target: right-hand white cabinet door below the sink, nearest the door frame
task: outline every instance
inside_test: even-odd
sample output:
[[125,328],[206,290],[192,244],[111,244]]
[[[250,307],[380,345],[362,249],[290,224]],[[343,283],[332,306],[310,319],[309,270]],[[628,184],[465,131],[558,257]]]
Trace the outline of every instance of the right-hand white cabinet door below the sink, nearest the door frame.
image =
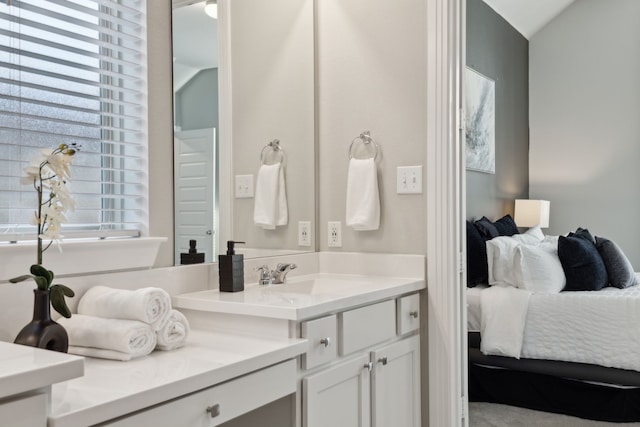
[[420,337],[371,353],[372,426],[420,427]]

